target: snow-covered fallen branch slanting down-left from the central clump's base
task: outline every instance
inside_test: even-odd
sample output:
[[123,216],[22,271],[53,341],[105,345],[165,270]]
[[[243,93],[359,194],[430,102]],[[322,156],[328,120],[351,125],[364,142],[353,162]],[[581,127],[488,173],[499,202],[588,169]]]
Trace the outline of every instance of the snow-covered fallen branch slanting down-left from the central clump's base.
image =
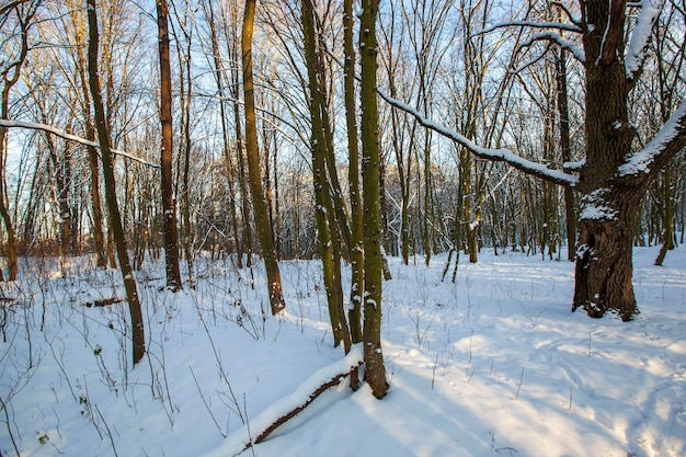
[[295,392],[273,403],[256,418],[230,434],[216,449],[203,457],[233,457],[259,444],[278,426],[295,418],[331,387],[341,384],[364,362],[362,344],[355,344],[342,359],[316,372]]

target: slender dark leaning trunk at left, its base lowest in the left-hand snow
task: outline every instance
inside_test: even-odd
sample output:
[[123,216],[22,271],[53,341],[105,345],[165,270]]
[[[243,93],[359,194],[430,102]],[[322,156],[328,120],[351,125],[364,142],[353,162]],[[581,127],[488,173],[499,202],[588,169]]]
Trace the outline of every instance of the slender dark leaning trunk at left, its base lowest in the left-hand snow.
[[110,132],[105,117],[105,108],[100,91],[100,77],[98,73],[98,12],[95,10],[95,0],[87,0],[88,10],[88,73],[89,85],[93,99],[93,107],[95,110],[95,128],[100,139],[100,148],[102,151],[103,175],[105,179],[105,199],[107,203],[107,215],[110,218],[110,232],[116,244],[117,258],[119,261],[119,270],[124,279],[124,288],[128,299],[128,310],[132,318],[132,340],[134,365],[136,365],[146,352],[146,339],[142,321],[142,311],[138,299],[138,290],[136,279],[132,272],[132,265],[126,251],[126,240],[124,237],[124,228],[119,215],[119,206],[116,201],[116,185],[114,181],[114,162],[111,152]]

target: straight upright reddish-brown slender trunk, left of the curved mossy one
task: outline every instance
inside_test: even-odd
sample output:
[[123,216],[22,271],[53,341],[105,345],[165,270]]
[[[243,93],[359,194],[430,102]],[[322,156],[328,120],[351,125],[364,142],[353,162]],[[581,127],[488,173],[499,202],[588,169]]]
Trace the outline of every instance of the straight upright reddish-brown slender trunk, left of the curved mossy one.
[[158,45],[160,56],[160,123],[162,124],[160,164],[162,172],[164,258],[167,264],[167,288],[176,292],[181,289],[181,271],[179,269],[179,233],[172,176],[172,85],[168,16],[169,9],[167,7],[167,0],[157,0]]

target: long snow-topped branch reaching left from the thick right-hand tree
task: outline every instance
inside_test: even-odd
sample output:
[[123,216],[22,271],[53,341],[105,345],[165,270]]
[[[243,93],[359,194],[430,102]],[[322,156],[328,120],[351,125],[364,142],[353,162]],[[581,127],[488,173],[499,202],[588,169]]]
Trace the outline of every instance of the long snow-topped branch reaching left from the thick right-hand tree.
[[576,185],[576,183],[579,182],[579,178],[574,176],[573,174],[568,174],[564,173],[562,171],[559,170],[552,170],[549,169],[548,167],[546,167],[542,163],[538,163],[538,162],[534,162],[527,159],[524,159],[523,157],[517,156],[515,152],[511,151],[510,149],[505,149],[505,148],[500,148],[500,149],[489,149],[489,148],[482,148],[478,145],[476,145],[473,141],[471,141],[469,138],[465,137],[464,135],[460,135],[459,133],[444,126],[437,123],[434,123],[433,121],[430,121],[427,118],[425,118],[424,116],[422,116],[422,114],[420,114],[419,111],[416,111],[415,108],[413,108],[412,106],[409,106],[404,103],[402,103],[399,100],[393,99],[390,95],[387,95],[386,93],[377,90],[377,93],[381,96],[381,99],[384,99],[386,102],[388,102],[390,105],[397,107],[398,110],[404,111],[405,113],[412,115],[421,125],[423,125],[424,127],[446,137],[451,139],[453,141],[457,142],[458,145],[465,147],[466,149],[468,149],[471,153],[473,153],[475,156],[481,158],[481,159],[485,159],[485,160],[491,160],[493,162],[505,162],[511,167],[516,168],[517,170],[526,173],[526,174],[530,174],[537,178],[540,178],[545,181],[549,181],[559,185],[563,185],[563,186],[569,186],[569,187],[573,187],[574,185]]

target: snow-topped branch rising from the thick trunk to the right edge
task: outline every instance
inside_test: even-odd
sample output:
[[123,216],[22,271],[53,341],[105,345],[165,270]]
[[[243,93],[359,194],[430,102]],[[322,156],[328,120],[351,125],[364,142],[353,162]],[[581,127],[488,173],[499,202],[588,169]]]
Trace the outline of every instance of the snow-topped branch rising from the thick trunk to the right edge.
[[679,150],[686,147],[686,99],[670,116],[658,135],[643,149],[627,158],[617,169],[617,175],[629,176],[658,171]]

